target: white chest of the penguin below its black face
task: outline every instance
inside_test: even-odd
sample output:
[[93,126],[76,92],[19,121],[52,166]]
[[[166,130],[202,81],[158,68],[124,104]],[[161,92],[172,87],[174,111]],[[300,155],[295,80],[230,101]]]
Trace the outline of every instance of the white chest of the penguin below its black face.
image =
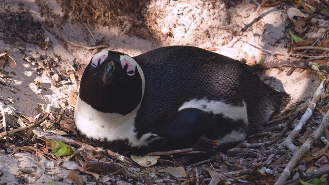
[[[158,135],[147,133],[140,139],[137,138],[137,133],[134,131],[135,117],[139,106],[127,115],[102,113],[94,109],[80,99],[78,96],[75,122],[77,129],[88,138],[96,140],[125,140],[128,139],[131,146],[147,146],[155,139],[160,139]],[[153,136],[152,140],[149,138]]]

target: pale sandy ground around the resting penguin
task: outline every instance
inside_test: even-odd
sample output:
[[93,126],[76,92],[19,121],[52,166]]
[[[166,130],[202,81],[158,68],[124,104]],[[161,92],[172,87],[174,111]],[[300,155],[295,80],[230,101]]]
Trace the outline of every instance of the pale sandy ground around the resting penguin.
[[[42,13],[45,6],[41,5],[46,5],[53,14]],[[167,8],[165,10],[158,8],[163,6]],[[102,44],[109,46],[103,50],[116,50],[131,56],[161,46],[192,45],[201,48],[216,48],[214,52],[228,57],[257,62],[264,57],[264,53],[249,44],[272,51],[287,52],[284,43],[290,42],[287,38],[281,39],[285,34],[285,23],[288,21],[284,11],[277,8],[255,7],[251,4],[243,5],[240,2],[170,1],[168,3],[168,1],[157,1],[148,3],[145,5],[145,11],[153,12],[153,17],[148,23],[151,31],[147,29],[144,31],[149,32],[150,39],[147,39],[148,34],[143,36],[144,39],[127,34],[127,30],[134,29],[132,26],[124,28],[89,26],[89,32],[83,24],[71,22],[68,19],[61,22],[60,27],[58,23],[54,23],[51,27],[47,17],[64,16],[61,5],[56,1],[0,0],[0,8],[2,11],[19,12],[24,16],[27,16],[25,14],[30,16],[23,20],[22,15],[20,20],[16,14],[7,13],[0,20],[2,25],[0,26],[0,51],[15,52],[11,56],[17,63],[15,69],[9,66],[5,68],[10,78],[0,79],[6,84],[0,84],[1,102],[6,114],[15,112],[27,117],[38,115],[40,105],[46,107],[50,104],[53,109],[65,110],[67,118],[74,121],[71,117],[74,108],[67,102],[69,92],[72,90],[78,93],[78,82],[84,66],[93,54],[101,49],[80,48],[63,40],[82,46],[94,46],[96,43],[90,32],[96,41],[102,41]],[[159,11],[155,11],[157,9]],[[257,17],[260,17],[259,21],[248,26]],[[15,20],[12,20],[13,18]],[[22,21],[26,21],[26,24],[21,25]],[[32,23],[40,25],[31,26]],[[244,28],[246,29],[240,32]],[[249,44],[234,39],[232,31],[239,32]],[[24,34],[23,39],[17,32]],[[33,37],[33,34],[36,35],[39,32],[42,34],[41,39]],[[33,42],[40,43],[46,38],[49,39],[46,49],[42,49],[40,45]],[[27,57],[30,60],[26,60]],[[271,55],[266,56],[265,62],[273,58]],[[43,68],[43,72],[40,72],[40,68]],[[308,70],[298,69],[287,76],[288,70],[288,68],[266,70],[262,79],[290,94],[291,103],[305,101],[307,104],[319,84],[317,75]],[[70,74],[74,74],[77,80],[72,81],[68,78]],[[39,85],[35,85],[35,81]],[[29,152],[12,152],[3,146],[1,150],[0,184],[72,183],[66,178],[69,171],[61,168],[56,161],[50,161],[42,156],[39,156],[39,161],[37,161],[35,155]],[[38,172],[35,172],[40,169],[38,167],[40,163],[43,163],[46,169],[41,177],[38,176]],[[26,168],[31,168],[32,172],[24,172]],[[95,183],[95,179],[88,178],[88,175],[84,175],[84,179],[88,184]]]

